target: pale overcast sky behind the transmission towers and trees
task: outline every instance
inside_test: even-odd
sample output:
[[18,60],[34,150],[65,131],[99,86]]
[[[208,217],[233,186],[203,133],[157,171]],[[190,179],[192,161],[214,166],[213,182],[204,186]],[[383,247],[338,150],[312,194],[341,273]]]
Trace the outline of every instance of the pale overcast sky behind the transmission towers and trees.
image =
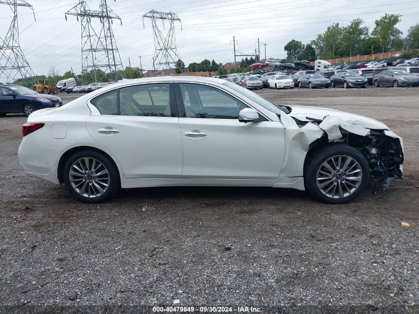
[[[36,22],[29,8],[19,7],[20,45],[35,74],[48,74],[55,65],[60,74],[73,68],[81,72],[81,27],[75,16],[64,13],[77,0],[28,0],[35,10]],[[91,10],[100,0],[88,0]],[[402,14],[397,26],[406,36],[410,26],[419,22],[418,0],[108,0],[108,5],[121,17],[113,29],[124,67],[128,57],[132,66],[150,69],[154,55],[153,30],[150,20],[143,27],[142,15],[151,9],[176,13],[182,21],[176,24],[176,43],[183,62],[215,59],[218,63],[234,61],[236,49],[254,53],[260,39],[260,55],[284,58],[284,45],[296,39],[306,44],[333,22],[348,24],[354,18],[364,20],[370,31],[374,20],[387,13]],[[11,10],[0,5],[0,37],[4,38],[11,22]],[[92,24],[100,28],[99,21]],[[163,24],[160,25],[163,27]],[[238,57],[238,61],[240,58]]]

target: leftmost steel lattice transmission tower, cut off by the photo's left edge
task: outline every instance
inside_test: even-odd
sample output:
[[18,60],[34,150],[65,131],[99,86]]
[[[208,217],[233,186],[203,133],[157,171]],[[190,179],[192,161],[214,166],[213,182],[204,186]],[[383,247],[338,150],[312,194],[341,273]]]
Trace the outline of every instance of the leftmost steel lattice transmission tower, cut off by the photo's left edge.
[[[0,0],[0,4],[8,4],[13,11],[13,19],[4,40],[0,38],[0,81],[12,83],[18,78],[34,79],[34,73],[23,55],[19,44],[19,26],[17,21],[17,7],[33,7],[23,0]],[[35,12],[34,12],[35,18]]]

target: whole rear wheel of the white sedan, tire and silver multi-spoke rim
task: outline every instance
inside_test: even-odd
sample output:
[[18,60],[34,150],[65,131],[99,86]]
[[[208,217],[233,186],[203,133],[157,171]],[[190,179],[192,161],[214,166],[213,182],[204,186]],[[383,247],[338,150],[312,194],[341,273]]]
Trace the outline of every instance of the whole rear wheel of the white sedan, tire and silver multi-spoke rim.
[[94,150],[73,153],[65,161],[62,177],[69,192],[87,203],[109,200],[120,189],[120,177],[114,163]]

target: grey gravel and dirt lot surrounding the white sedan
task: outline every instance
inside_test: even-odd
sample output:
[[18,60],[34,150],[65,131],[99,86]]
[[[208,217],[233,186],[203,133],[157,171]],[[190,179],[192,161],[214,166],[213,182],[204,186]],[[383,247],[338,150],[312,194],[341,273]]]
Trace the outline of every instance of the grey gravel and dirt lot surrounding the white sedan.
[[345,205],[271,188],[133,189],[89,205],[24,174],[17,149],[26,119],[6,116],[0,313],[152,313],[137,306],[161,305],[418,313],[419,88],[257,93],[381,120],[404,138],[405,180]]

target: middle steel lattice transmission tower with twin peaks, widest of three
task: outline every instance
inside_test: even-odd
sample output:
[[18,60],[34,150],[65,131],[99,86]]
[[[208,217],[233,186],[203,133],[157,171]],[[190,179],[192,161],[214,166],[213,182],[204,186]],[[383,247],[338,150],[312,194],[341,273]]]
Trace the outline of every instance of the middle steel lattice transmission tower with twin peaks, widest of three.
[[[85,0],[65,13],[80,16],[81,19],[81,74],[82,83],[117,81],[125,77],[123,66],[115,41],[112,25],[114,19],[120,17],[107,5],[106,0],[100,1],[99,10],[90,10]],[[102,26],[96,32],[91,24],[92,18],[99,18]]]

